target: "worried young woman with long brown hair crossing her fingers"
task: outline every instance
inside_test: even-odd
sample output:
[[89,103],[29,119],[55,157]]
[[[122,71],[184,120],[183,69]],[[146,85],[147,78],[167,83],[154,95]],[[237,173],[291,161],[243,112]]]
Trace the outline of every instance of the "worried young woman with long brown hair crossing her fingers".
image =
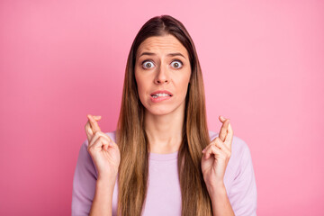
[[257,215],[247,144],[222,116],[208,130],[197,53],[175,18],[151,18],[133,41],[117,130],[87,118],[72,215]]

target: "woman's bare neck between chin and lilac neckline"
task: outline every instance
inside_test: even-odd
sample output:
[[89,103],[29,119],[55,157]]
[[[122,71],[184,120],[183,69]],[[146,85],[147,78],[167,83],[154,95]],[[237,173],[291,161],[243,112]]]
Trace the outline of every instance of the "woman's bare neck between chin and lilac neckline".
[[184,108],[165,115],[145,112],[145,130],[148,135],[149,152],[169,154],[177,151],[182,141]]

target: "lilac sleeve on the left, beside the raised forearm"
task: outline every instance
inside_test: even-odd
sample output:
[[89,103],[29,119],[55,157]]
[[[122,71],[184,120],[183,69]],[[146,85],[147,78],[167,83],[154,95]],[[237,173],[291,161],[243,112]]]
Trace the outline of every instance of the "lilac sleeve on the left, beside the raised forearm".
[[72,190],[72,216],[89,215],[94,199],[97,171],[87,151],[88,141],[83,142],[76,162]]

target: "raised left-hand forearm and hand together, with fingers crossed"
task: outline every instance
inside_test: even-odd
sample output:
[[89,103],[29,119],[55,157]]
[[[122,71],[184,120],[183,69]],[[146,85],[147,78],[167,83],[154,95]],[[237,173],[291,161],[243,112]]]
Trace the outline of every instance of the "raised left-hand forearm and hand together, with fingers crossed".
[[88,140],[87,151],[98,171],[94,200],[89,215],[112,215],[112,194],[116,182],[121,153],[113,140],[100,129],[101,116],[87,115],[85,133]]

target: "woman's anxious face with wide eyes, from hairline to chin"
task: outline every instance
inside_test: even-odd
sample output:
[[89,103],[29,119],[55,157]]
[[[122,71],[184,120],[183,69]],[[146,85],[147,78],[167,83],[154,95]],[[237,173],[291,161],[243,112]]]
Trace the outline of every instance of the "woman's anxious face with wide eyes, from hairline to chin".
[[190,76],[188,52],[175,36],[149,37],[139,45],[135,79],[146,112],[164,115],[184,111]]

